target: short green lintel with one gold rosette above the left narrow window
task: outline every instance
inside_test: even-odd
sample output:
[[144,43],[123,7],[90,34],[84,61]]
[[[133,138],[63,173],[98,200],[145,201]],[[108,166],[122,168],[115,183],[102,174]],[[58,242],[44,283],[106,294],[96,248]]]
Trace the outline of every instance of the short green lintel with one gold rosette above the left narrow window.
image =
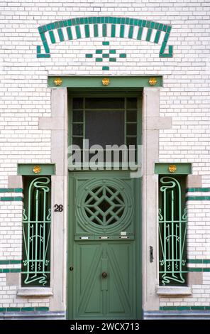
[[[33,172],[35,166],[40,166],[40,173]],[[18,175],[55,175],[55,163],[18,163]]]

